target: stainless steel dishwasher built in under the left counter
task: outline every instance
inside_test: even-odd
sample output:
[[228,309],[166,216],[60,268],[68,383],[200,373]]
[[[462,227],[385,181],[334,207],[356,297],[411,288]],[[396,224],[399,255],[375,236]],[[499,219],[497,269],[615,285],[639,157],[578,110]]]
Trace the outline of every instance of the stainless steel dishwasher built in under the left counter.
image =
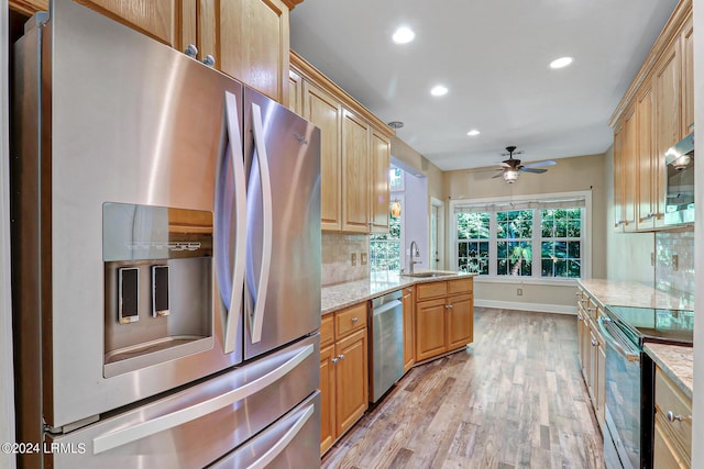
[[372,300],[370,321],[370,400],[377,402],[404,375],[402,290]]

